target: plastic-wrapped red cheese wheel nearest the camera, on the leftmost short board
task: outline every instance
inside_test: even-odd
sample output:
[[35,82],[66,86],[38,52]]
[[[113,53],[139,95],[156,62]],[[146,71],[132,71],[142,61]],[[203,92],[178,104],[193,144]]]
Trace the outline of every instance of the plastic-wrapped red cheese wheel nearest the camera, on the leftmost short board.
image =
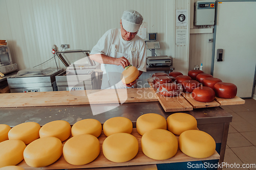
[[172,97],[180,94],[180,87],[175,83],[164,83],[159,87],[159,93],[166,97]]

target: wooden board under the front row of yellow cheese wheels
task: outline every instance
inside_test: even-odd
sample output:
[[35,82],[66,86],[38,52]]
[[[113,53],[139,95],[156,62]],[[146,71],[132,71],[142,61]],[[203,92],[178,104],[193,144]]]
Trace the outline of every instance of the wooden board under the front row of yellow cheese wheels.
[[[122,162],[122,163],[116,163],[109,161],[106,159],[103,155],[102,152],[102,143],[106,136],[104,135],[103,131],[101,135],[98,137],[99,142],[100,142],[100,154],[99,156],[92,161],[91,163],[88,163],[86,165],[71,165],[66,160],[64,159],[63,155],[53,164],[46,166],[46,167],[30,167],[26,164],[26,162],[23,160],[18,166],[23,167],[24,169],[72,169],[72,168],[92,168],[92,167],[111,167],[111,166],[131,166],[131,165],[145,165],[145,164],[160,164],[160,163],[174,163],[174,162],[188,162],[188,161],[198,161],[198,160],[214,160],[214,159],[220,159],[220,155],[215,151],[214,155],[208,157],[208,158],[203,158],[203,159],[197,159],[197,158],[192,158],[189,157],[185,154],[183,154],[180,149],[178,149],[177,154],[169,159],[166,160],[154,160],[151,158],[148,158],[145,156],[141,150],[141,135],[138,134],[136,128],[133,129],[132,135],[134,135],[138,142],[139,142],[139,152],[138,154],[130,161],[127,162]],[[178,138],[178,136],[177,136]],[[63,144],[66,141],[62,142]]]

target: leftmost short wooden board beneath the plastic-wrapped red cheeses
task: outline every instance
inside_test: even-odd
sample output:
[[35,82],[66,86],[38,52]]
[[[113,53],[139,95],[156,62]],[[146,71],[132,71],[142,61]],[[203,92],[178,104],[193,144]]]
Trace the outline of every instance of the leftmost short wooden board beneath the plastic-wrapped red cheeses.
[[[150,82],[148,83],[150,84],[152,90],[156,92],[156,89],[153,88],[153,84]],[[193,110],[193,107],[181,95],[174,97],[166,97],[162,96],[159,93],[156,93],[156,97],[160,104],[162,105],[165,112]]]

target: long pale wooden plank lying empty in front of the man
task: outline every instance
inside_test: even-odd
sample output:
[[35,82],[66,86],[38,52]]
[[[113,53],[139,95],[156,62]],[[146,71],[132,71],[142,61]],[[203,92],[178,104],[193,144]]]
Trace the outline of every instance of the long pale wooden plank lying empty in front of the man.
[[65,106],[158,101],[150,88],[0,94],[0,107]]

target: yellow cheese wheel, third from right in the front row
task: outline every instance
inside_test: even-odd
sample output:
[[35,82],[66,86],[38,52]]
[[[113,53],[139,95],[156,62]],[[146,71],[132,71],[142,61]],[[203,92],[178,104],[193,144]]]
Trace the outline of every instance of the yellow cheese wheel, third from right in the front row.
[[106,159],[110,161],[126,162],[137,155],[139,143],[131,134],[115,133],[103,141],[102,151]]

